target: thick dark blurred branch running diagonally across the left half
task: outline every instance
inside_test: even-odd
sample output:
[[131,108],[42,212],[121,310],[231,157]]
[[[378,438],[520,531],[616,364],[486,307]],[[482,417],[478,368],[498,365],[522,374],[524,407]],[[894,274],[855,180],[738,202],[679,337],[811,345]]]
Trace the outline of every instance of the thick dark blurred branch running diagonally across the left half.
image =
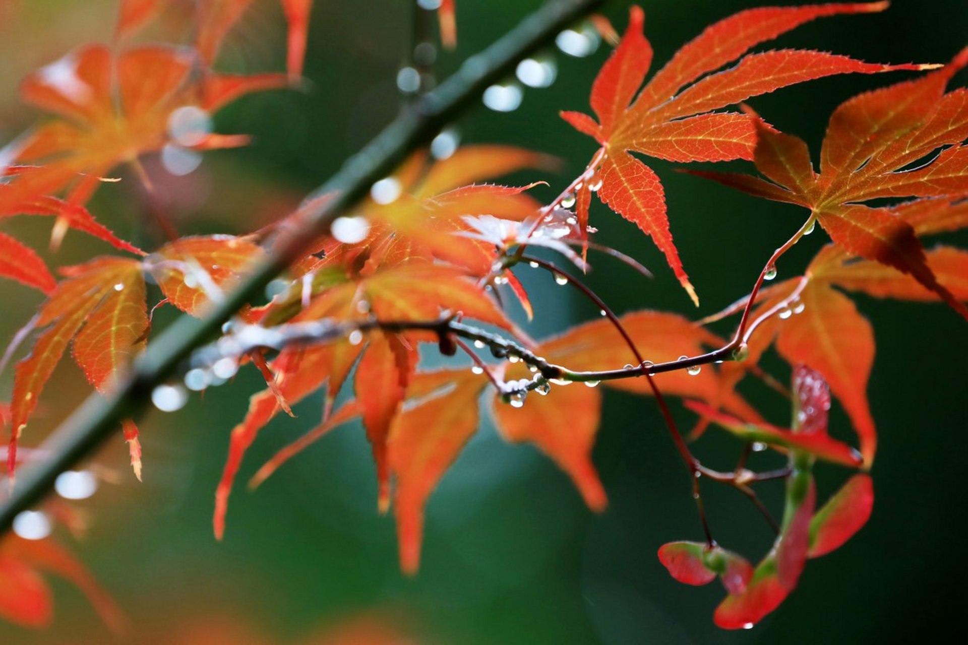
[[330,223],[355,205],[370,187],[388,175],[420,145],[475,103],[481,93],[519,61],[551,42],[575,20],[588,15],[604,0],[555,0],[525,18],[512,31],[481,53],[469,58],[461,69],[440,86],[412,103],[363,150],[318,189],[330,198],[309,209],[300,224],[283,231],[269,257],[253,268],[249,278],[226,294],[226,299],[201,319],[185,316],[152,342],[114,392],[103,398],[87,398],[44,442],[50,458],[25,468],[19,485],[0,507],[0,535],[10,529],[16,513],[39,502],[61,472],[92,454],[117,426],[136,416],[152,390],[174,373],[177,366],[220,328],[239,308],[261,293],[270,280],[308,249]]

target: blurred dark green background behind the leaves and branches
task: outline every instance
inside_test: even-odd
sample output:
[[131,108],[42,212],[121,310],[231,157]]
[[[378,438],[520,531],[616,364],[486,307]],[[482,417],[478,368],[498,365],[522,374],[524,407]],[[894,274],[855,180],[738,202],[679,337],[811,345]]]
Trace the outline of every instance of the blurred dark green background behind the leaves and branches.
[[[395,76],[409,46],[412,4],[318,0],[307,91],[250,97],[218,115],[219,132],[251,132],[254,143],[209,154],[196,173],[163,185],[170,195],[165,206],[179,229],[246,232],[279,217],[391,120],[400,104]],[[539,4],[460,0],[459,46],[440,53],[439,77]],[[711,21],[753,6],[739,0],[643,4],[659,64]],[[281,13],[272,2],[256,5],[228,44],[228,68],[282,68]],[[607,5],[620,30],[628,5]],[[110,0],[31,0],[4,14],[0,140],[10,140],[37,117],[16,103],[18,77],[77,44],[108,39],[114,9]],[[895,0],[884,14],[825,19],[767,46],[811,47],[868,61],[945,62],[968,44],[966,27],[963,0]],[[551,188],[536,192],[550,199],[593,152],[590,139],[573,132],[557,112],[587,110],[590,83],[607,47],[585,58],[554,48],[546,53],[558,66],[554,85],[526,88],[520,108],[509,113],[477,107],[456,127],[465,143],[500,142],[560,156],[559,174],[512,178],[546,179]],[[816,153],[836,104],[901,77],[834,77],[750,103],[778,128],[802,135]],[[957,80],[963,83],[965,74]],[[794,207],[679,174],[673,164],[650,164],[665,183],[673,232],[703,308],[692,310],[650,242],[595,204],[597,239],[633,254],[656,274],[641,279],[598,258],[589,283],[617,310],[660,308],[697,317],[716,311],[748,291],[771,249],[802,220]],[[123,237],[150,247],[158,240],[142,225],[142,197],[134,181],[109,185],[92,210]],[[38,248],[48,226],[4,222],[4,230]],[[964,247],[968,237],[950,236],[949,242]],[[804,239],[784,258],[780,277],[801,271],[824,243],[823,233]],[[72,233],[55,263],[94,252],[109,249]],[[539,311],[530,327],[534,336],[595,314],[549,279],[529,283]],[[6,343],[39,301],[12,283],[3,285],[3,293],[0,341]],[[397,567],[392,519],[375,508],[373,466],[359,427],[327,436],[255,493],[241,484],[315,425],[319,401],[312,399],[297,408],[298,419],[277,420],[259,437],[232,496],[226,540],[215,542],[210,517],[227,433],[259,387],[257,373],[243,370],[232,384],[193,397],[181,411],[144,420],[144,484],[125,471],[120,433],[100,457],[122,477],[81,504],[92,523],[74,546],[135,628],[112,636],[76,589],[55,583],[53,625],[30,631],[0,624],[0,643],[906,643],[928,633],[963,633],[964,321],[941,305],[862,296],[857,302],[873,321],[878,342],[869,390],[881,437],[874,514],[853,541],[810,562],[796,593],[754,630],[717,630],[711,613],[722,589],[685,587],[658,563],[655,551],[663,542],[702,537],[689,482],[654,402],[615,392],[605,393],[594,452],[610,499],[605,513],[590,513],[550,460],[530,447],[505,445],[485,424],[431,498],[422,569],[409,579]],[[165,314],[159,324],[170,318]],[[728,325],[717,329],[729,331]],[[775,358],[767,365],[787,378]],[[3,392],[9,392],[10,377],[10,370],[0,376]],[[47,390],[43,423],[31,428],[37,434],[27,438],[28,445],[84,394],[78,370],[65,363]],[[745,394],[773,420],[786,418],[782,401],[765,389]],[[691,423],[678,403],[674,412],[682,425]],[[833,432],[849,438],[839,411],[833,420]],[[712,466],[729,467],[737,451],[734,442],[712,433],[699,447]],[[818,473],[822,497],[845,476],[832,467],[818,467]],[[777,508],[779,486],[764,489]],[[746,500],[733,490],[706,490],[719,542],[751,557],[761,554],[771,533]]]

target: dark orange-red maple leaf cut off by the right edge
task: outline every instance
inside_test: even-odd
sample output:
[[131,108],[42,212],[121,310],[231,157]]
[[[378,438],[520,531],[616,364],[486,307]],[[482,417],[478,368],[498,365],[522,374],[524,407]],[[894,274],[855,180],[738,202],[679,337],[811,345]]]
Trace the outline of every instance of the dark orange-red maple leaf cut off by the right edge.
[[[917,279],[968,318],[968,308],[935,276],[917,231],[898,208],[872,206],[880,197],[942,197],[968,189],[968,109],[965,90],[945,94],[968,65],[964,49],[942,70],[862,94],[837,107],[815,172],[806,144],[756,120],[754,161],[771,183],[737,175],[703,176],[777,201],[810,209],[833,242],[852,255]],[[907,169],[937,149],[937,157]]]

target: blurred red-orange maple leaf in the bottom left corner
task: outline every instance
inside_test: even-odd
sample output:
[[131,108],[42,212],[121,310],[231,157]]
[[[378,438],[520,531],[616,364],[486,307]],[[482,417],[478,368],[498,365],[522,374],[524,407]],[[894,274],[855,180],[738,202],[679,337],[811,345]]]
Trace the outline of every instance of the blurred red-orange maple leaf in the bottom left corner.
[[55,573],[76,585],[111,630],[124,626],[114,601],[73,555],[51,538],[25,540],[15,535],[0,539],[0,617],[30,628],[50,622],[53,601],[41,572]]

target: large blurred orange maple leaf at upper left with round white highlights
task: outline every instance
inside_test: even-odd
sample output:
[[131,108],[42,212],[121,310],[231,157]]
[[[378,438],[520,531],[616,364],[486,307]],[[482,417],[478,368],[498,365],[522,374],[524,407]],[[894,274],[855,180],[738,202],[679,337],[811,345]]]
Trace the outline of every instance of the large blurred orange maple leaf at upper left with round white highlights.
[[[278,74],[205,73],[197,69],[191,50],[183,48],[112,52],[101,44],[81,47],[20,84],[25,102],[61,119],[29,134],[16,159],[40,165],[5,187],[0,203],[10,206],[0,212],[29,208],[62,190],[68,202],[83,204],[111,168],[166,146],[205,150],[238,145],[242,141],[237,138],[208,132],[207,114],[249,92],[283,84]],[[68,220],[71,214],[57,217]]]

